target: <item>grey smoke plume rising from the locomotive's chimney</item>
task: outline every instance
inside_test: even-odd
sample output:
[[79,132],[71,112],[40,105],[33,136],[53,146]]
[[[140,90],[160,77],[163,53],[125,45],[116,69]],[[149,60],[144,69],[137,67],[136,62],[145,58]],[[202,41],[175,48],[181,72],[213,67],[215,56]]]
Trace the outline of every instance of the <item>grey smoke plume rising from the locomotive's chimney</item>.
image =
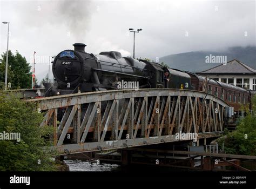
[[44,27],[50,25],[51,30],[72,37],[76,42],[83,42],[89,30],[92,9],[88,0],[20,1],[14,6],[23,25],[30,30],[44,31]]

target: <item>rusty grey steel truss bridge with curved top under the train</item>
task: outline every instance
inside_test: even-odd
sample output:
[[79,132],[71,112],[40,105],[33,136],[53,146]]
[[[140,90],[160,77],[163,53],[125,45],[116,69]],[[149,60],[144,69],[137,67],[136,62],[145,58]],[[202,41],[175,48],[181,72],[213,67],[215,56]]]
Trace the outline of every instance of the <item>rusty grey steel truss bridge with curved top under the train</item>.
[[60,153],[122,149],[178,141],[176,133],[218,137],[224,130],[221,99],[176,89],[111,90],[31,99],[53,126]]

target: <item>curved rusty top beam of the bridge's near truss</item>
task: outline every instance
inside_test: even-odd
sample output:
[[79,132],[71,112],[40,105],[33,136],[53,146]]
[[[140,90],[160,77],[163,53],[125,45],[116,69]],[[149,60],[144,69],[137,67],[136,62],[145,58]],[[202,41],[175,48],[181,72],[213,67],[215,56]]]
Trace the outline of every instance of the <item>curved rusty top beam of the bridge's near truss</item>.
[[99,92],[77,93],[72,95],[60,95],[55,97],[46,97],[42,99],[30,99],[28,102],[38,102],[41,110],[49,110],[58,107],[72,106],[76,104],[85,104],[91,102],[107,101],[124,98],[144,98],[153,96],[189,96],[212,100],[221,106],[228,106],[223,100],[200,91],[179,90],[179,89],[139,89],[135,90],[109,90]]

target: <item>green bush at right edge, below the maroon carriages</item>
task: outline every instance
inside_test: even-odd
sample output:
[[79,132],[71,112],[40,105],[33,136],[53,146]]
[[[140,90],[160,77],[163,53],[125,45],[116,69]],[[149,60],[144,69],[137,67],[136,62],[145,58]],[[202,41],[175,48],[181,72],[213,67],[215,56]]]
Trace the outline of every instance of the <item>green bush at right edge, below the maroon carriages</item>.
[[[256,96],[252,99],[253,110],[256,111]],[[242,118],[233,132],[218,140],[224,143],[226,153],[256,156],[256,117],[250,113]]]

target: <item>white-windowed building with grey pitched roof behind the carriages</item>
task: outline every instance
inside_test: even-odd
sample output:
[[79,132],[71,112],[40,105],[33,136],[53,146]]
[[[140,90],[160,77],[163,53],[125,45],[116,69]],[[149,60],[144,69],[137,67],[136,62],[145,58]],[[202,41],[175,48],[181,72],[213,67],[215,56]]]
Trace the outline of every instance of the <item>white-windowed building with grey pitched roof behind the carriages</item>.
[[213,78],[219,82],[256,91],[256,70],[237,59],[197,72],[197,74]]

